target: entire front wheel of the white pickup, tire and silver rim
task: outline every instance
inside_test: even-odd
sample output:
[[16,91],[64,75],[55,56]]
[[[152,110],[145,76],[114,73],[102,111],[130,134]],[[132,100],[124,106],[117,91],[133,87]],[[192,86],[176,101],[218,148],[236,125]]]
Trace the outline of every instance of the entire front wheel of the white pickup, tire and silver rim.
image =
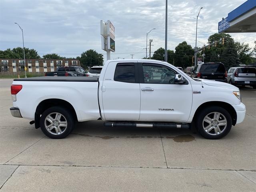
[[230,114],[222,107],[211,106],[200,112],[196,119],[200,134],[207,139],[220,139],[232,128]]

